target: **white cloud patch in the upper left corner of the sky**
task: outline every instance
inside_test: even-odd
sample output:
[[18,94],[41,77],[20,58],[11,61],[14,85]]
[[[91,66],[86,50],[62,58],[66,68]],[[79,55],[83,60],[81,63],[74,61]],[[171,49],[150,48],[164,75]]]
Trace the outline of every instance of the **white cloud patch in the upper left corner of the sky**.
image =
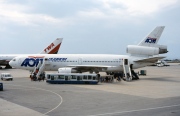
[[39,26],[41,24],[64,24],[60,18],[46,13],[30,13],[33,8],[28,5],[0,2],[0,20],[3,23],[16,23],[22,26]]

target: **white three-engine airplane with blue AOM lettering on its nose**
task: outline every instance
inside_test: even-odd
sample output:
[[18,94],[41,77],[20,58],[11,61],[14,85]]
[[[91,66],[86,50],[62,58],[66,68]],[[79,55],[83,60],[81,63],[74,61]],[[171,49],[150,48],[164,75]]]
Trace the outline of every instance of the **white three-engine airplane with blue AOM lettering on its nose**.
[[106,72],[115,75],[123,71],[127,80],[132,80],[132,69],[141,68],[157,62],[167,53],[167,46],[157,42],[165,26],[156,27],[138,45],[128,45],[130,55],[107,54],[33,54],[18,56],[11,60],[12,67],[27,70],[57,71],[59,73]]

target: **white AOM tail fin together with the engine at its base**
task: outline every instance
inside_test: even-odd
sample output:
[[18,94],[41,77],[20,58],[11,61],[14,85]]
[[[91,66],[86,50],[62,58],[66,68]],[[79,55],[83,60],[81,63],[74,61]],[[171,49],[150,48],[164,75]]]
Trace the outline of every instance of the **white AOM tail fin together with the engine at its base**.
[[146,36],[138,45],[128,45],[127,53],[131,55],[153,56],[167,53],[166,45],[158,45],[160,36],[165,26],[157,26],[148,36]]

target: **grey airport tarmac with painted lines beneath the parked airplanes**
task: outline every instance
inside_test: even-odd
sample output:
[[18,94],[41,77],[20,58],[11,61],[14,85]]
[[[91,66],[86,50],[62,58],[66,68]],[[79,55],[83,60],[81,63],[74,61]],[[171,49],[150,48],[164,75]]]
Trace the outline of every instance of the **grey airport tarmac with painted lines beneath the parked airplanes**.
[[180,116],[180,65],[139,70],[147,75],[131,82],[73,85],[35,82],[27,70],[0,69],[14,77],[0,81],[0,116]]

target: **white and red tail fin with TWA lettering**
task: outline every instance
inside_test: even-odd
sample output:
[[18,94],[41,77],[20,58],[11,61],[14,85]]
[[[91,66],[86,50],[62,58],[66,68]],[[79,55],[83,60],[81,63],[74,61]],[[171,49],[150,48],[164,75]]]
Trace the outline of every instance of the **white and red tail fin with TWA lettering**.
[[63,38],[57,38],[50,45],[48,45],[40,54],[57,54],[61,46]]

